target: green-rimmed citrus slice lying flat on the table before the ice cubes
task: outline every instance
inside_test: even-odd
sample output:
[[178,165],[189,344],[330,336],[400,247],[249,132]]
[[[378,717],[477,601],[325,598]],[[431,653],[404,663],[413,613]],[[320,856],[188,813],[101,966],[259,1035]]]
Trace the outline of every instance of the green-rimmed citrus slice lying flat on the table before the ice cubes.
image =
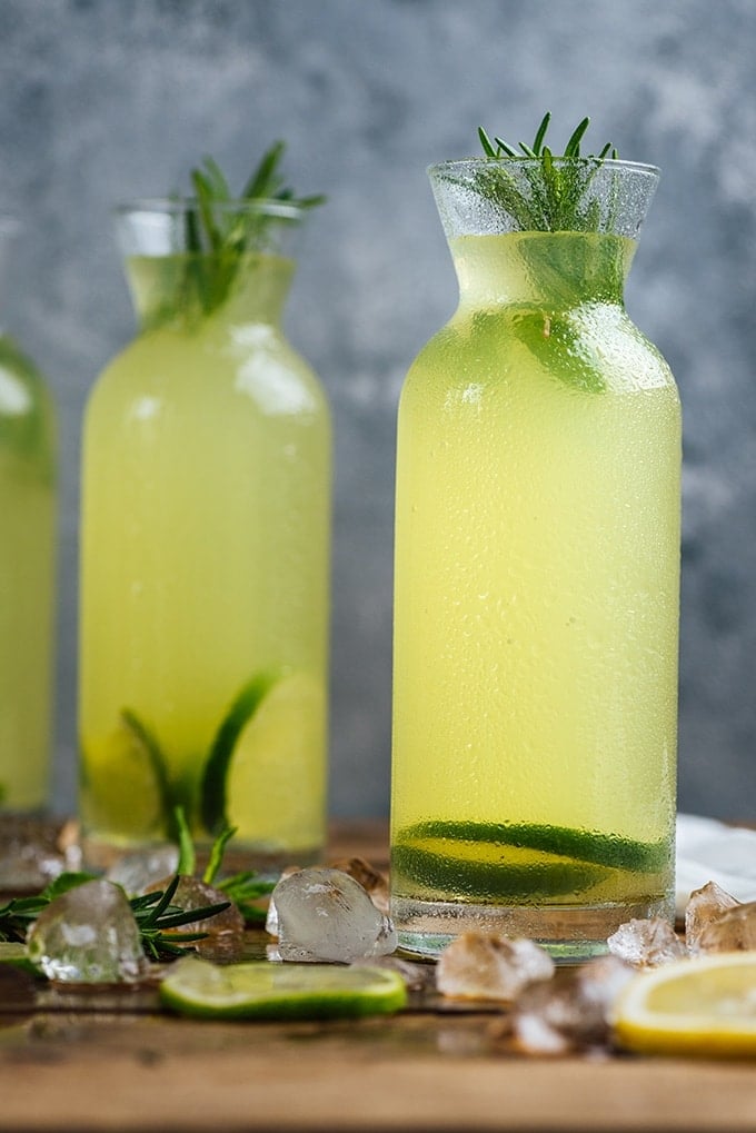
[[212,964],[186,956],[160,985],[162,1002],[202,1019],[338,1019],[389,1014],[407,1003],[405,981],[383,968],[334,964]]

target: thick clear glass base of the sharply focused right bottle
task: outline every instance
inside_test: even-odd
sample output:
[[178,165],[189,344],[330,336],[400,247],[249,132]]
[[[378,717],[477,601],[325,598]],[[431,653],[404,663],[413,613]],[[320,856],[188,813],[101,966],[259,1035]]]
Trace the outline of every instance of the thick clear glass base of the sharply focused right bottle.
[[673,903],[654,895],[647,901],[600,905],[475,905],[393,897],[391,917],[399,951],[435,960],[464,932],[527,937],[558,964],[579,964],[609,952],[608,937],[626,921],[662,917],[673,921]]

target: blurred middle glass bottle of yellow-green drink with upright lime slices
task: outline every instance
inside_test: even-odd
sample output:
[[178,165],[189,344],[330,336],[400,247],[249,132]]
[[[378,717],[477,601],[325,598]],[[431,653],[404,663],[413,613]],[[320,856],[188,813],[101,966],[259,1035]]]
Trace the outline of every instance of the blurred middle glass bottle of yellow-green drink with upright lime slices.
[[235,827],[255,866],[324,840],[329,410],[281,330],[303,211],[218,210],[246,250],[196,250],[190,203],[119,212],[141,327],[91,394],[83,452],[93,863],[175,837],[176,807],[198,843]]

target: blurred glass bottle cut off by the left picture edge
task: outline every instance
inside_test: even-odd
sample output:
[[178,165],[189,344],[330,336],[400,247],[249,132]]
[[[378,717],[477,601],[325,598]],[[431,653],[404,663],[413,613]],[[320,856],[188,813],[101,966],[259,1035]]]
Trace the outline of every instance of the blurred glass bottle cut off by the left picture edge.
[[[0,218],[0,272],[18,224]],[[56,613],[57,417],[0,325],[0,811],[49,802]]]

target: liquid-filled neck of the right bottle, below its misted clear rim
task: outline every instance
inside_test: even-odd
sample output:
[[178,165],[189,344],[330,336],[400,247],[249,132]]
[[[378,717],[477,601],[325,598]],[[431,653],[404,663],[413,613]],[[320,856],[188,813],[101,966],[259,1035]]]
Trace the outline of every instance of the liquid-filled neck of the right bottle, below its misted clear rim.
[[619,304],[636,244],[596,232],[509,232],[449,241],[460,305],[516,304],[567,310]]

